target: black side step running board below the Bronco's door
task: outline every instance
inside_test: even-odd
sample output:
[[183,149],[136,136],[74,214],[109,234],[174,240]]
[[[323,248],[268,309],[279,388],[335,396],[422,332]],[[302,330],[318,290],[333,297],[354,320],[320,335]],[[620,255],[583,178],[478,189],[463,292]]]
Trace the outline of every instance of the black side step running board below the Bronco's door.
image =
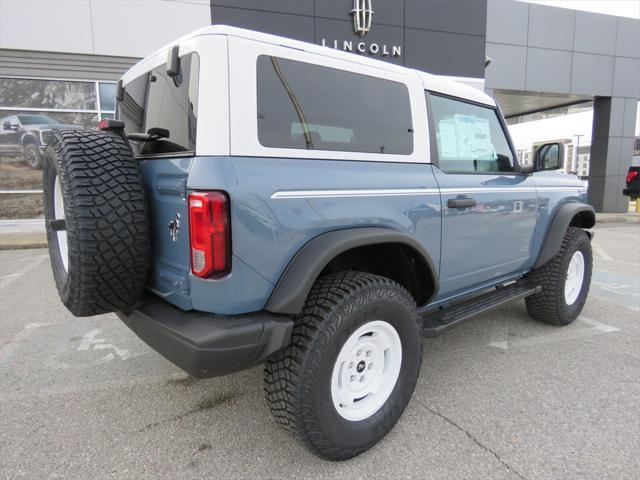
[[448,307],[428,310],[422,313],[422,335],[437,337],[469,320],[479,313],[491,310],[514,300],[539,293],[542,287],[520,280],[506,287],[498,287],[488,293],[464,300]]

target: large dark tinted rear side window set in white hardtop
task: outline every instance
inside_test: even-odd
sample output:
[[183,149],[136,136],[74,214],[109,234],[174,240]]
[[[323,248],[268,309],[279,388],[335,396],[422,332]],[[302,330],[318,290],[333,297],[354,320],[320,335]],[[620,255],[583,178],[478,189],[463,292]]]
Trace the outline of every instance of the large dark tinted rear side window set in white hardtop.
[[403,84],[264,55],[257,70],[258,138],[265,147],[413,151]]

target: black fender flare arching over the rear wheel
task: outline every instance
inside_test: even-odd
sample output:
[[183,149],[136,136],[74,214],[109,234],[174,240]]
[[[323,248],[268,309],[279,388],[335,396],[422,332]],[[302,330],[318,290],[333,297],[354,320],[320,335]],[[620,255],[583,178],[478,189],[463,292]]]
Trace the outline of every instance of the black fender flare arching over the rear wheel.
[[352,248],[383,243],[398,243],[415,250],[431,272],[432,291],[434,294],[438,291],[435,264],[413,236],[389,228],[355,227],[320,234],[303,245],[280,276],[265,310],[283,314],[300,313],[311,287],[331,260]]

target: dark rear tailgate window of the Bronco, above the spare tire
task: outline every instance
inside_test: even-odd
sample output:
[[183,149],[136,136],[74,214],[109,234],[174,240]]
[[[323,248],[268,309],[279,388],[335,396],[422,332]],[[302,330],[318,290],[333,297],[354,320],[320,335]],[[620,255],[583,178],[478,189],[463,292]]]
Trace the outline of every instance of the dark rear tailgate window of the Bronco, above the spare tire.
[[136,154],[195,151],[199,72],[198,54],[190,53],[180,57],[178,76],[168,76],[163,64],[126,85],[124,99],[118,103],[125,132],[169,131],[169,138],[132,142]]

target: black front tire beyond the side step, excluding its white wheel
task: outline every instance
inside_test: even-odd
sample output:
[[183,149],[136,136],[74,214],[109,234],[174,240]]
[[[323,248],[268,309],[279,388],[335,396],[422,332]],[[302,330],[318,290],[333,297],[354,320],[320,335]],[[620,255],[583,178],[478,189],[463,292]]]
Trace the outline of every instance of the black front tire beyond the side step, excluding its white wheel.
[[[569,262],[576,251],[580,251],[584,257],[584,277],[578,298],[573,304],[567,305],[564,294],[565,281]],[[547,264],[527,275],[532,284],[542,287],[540,293],[525,299],[529,315],[550,325],[569,325],[580,315],[587,300],[592,270],[593,256],[589,236],[580,228],[569,227],[558,254]]]

